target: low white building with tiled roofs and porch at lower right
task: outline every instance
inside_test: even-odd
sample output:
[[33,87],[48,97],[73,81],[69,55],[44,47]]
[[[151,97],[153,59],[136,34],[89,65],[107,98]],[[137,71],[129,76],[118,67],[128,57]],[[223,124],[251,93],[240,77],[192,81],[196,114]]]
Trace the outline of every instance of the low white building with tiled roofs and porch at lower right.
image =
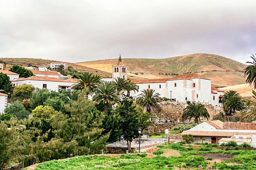
[[194,136],[194,142],[192,143],[218,143],[223,137],[246,136],[254,133],[256,133],[256,123],[211,120],[200,123],[189,130],[183,131],[181,134]]

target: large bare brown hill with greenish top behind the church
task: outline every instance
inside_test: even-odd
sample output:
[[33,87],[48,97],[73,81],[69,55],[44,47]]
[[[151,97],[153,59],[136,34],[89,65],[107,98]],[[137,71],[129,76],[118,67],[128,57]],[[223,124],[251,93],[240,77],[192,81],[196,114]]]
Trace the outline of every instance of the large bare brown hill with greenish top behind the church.
[[[211,79],[214,86],[245,83],[245,64],[215,54],[197,53],[162,59],[123,58],[122,62],[128,66],[128,75],[138,74],[141,78],[166,78],[192,72]],[[112,65],[116,63],[117,58],[77,64],[111,73]]]

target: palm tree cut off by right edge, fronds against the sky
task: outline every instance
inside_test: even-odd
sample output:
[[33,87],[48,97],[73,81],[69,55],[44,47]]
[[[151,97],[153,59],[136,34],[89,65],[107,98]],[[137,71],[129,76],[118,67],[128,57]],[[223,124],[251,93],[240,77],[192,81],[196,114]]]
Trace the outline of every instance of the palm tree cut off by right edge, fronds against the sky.
[[[256,55],[256,53],[255,53]],[[248,83],[250,86],[254,86],[254,89],[256,89],[256,58],[251,56],[253,59],[253,62],[246,62],[250,63],[252,65],[248,65],[245,68],[244,76],[247,76],[246,83]]]

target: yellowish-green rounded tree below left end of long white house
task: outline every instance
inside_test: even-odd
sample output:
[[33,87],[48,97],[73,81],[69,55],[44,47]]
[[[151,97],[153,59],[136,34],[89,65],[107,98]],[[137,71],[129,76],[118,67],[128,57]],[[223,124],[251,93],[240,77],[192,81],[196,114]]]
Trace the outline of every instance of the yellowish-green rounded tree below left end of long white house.
[[30,99],[32,97],[32,92],[35,87],[32,85],[20,85],[13,89],[11,97],[13,100],[23,101],[24,99]]

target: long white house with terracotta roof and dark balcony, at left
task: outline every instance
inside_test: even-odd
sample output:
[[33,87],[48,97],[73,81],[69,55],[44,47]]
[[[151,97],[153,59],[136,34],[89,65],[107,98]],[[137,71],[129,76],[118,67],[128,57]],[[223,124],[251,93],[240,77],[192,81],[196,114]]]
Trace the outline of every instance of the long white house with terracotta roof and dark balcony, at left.
[[46,88],[53,91],[62,91],[63,89],[70,91],[71,86],[76,83],[76,79],[61,80],[55,77],[45,77],[45,76],[31,76],[28,78],[19,78],[18,80],[13,80],[12,83],[15,86],[19,85],[33,85],[36,88]]

